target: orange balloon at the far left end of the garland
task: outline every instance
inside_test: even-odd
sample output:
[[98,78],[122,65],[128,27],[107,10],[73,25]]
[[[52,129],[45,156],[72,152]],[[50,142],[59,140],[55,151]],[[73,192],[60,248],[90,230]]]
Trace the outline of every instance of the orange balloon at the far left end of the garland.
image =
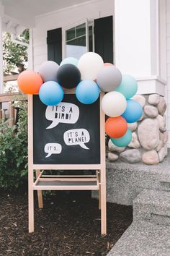
[[43,81],[40,77],[40,74],[37,74],[35,71],[26,70],[19,74],[18,79],[19,90],[22,93],[27,94],[37,94],[40,90],[40,86]]

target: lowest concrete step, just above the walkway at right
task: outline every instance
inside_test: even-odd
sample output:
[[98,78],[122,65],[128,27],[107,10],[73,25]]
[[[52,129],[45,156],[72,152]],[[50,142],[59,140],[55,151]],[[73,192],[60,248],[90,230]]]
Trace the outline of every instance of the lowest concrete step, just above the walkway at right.
[[170,226],[170,192],[144,189],[133,200],[133,220]]

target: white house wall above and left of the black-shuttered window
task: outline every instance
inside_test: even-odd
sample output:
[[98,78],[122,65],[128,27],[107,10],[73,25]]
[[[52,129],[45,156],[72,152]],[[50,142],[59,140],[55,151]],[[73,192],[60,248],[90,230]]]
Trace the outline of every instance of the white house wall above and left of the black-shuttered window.
[[59,11],[51,12],[36,18],[33,31],[34,69],[37,71],[43,61],[47,60],[47,31],[57,27],[66,27],[84,19],[94,20],[99,17],[113,15],[112,0],[91,1]]

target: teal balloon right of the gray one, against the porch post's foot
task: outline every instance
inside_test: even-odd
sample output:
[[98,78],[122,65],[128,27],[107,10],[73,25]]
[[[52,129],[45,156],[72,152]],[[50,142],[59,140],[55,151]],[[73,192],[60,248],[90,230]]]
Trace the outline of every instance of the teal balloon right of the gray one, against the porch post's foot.
[[135,95],[137,90],[138,90],[138,83],[135,80],[135,78],[128,74],[123,74],[122,82],[116,88],[116,91],[119,93],[122,93],[125,96],[125,98],[128,100],[129,98],[132,98]]

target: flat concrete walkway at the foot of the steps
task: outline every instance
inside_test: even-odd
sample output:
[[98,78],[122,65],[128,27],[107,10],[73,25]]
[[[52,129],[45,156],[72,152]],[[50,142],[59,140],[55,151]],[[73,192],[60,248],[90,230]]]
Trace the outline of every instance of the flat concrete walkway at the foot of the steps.
[[169,256],[170,226],[133,221],[107,256]]

